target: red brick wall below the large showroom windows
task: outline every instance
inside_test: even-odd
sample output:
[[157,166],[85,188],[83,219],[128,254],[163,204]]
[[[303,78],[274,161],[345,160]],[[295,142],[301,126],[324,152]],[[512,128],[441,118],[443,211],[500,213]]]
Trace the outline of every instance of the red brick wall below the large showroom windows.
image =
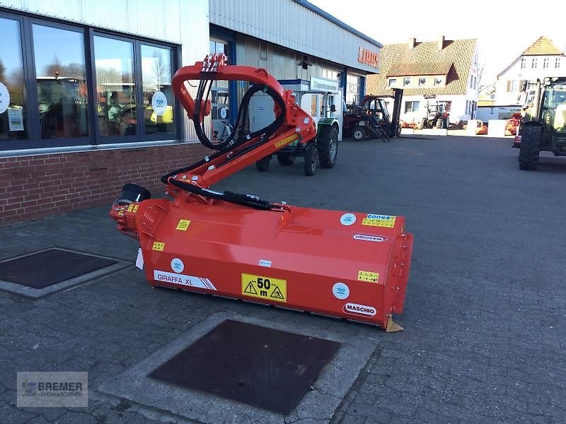
[[195,163],[198,143],[0,158],[0,225],[108,204],[134,182],[163,192],[161,175]]

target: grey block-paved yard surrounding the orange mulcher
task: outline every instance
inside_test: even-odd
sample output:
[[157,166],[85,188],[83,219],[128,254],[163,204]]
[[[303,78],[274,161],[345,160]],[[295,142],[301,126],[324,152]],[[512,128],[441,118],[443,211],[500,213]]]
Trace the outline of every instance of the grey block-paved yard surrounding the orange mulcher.
[[[300,163],[274,161],[269,172],[250,167],[214,187],[300,206],[405,215],[415,249],[405,310],[396,317],[405,330],[395,334],[151,290],[133,266],[136,241],[115,230],[106,206],[1,227],[0,260],[62,247],[132,266],[37,300],[0,292],[0,423],[227,422],[214,399],[218,416],[199,421],[180,406],[108,393],[219,316],[365,346],[343,390],[314,384],[309,391],[315,403],[337,396],[333,406],[321,412],[313,405],[284,423],[564,423],[566,159],[543,153],[539,170],[526,172],[517,155],[509,139],[345,140],[336,167],[314,177],[305,177]],[[88,408],[16,408],[17,371],[69,370],[88,372]],[[251,406],[231,408],[241,411],[233,423],[261,419]]]

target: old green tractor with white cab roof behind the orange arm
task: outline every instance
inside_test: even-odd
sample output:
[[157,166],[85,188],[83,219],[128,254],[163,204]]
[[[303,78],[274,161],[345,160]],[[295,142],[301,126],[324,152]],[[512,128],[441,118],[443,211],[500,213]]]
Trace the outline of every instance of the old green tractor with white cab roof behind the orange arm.
[[[277,151],[277,161],[284,166],[292,165],[295,158],[304,158],[305,175],[311,176],[316,172],[317,165],[331,168],[336,163],[338,154],[338,139],[340,120],[334,117],[336,110],[335,98],[340,95],[320,91],[296,91],[296,103],[307,112],[311,112],[316,123],[316,137],[301,144],[295,141]],[[342,113],[340,112],[340,116]],[[271,155],[258,160],[255,167],[260,172],[269,169]]]

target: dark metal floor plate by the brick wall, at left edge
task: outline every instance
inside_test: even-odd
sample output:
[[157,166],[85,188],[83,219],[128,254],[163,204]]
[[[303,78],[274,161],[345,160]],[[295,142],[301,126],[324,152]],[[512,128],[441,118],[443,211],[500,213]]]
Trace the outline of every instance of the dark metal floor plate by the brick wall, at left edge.
[[0,262],[0,280],[41,289],[116,263],[53,248]]

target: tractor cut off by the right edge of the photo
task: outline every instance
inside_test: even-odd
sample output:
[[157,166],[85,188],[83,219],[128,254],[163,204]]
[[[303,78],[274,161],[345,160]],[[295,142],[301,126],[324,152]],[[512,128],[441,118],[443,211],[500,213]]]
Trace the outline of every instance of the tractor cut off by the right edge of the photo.
[[525,118],[519,141],[521,170],[536,170],[541,151],[566,155],[566,77],[537,81]]

